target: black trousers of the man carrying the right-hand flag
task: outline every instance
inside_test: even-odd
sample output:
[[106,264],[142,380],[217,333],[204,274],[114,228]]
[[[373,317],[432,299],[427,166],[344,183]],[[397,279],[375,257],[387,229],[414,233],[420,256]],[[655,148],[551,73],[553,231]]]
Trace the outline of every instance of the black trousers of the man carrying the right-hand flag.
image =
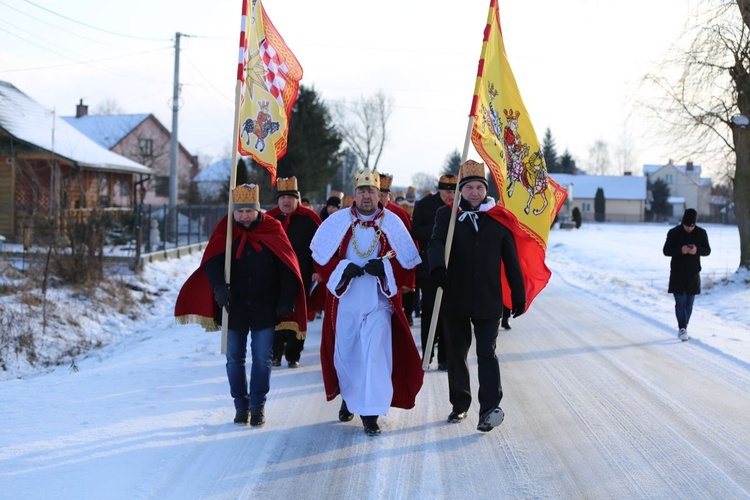
[[443,313],[445,340],[448,347],[448,392],[454,411],[467,411],[471,406],[469,364],[472,331],[477,340],[477,371],[479,375],[479,413],[500,406],[503,388],[500,364],[495,354],[500,318],[474,319]]

